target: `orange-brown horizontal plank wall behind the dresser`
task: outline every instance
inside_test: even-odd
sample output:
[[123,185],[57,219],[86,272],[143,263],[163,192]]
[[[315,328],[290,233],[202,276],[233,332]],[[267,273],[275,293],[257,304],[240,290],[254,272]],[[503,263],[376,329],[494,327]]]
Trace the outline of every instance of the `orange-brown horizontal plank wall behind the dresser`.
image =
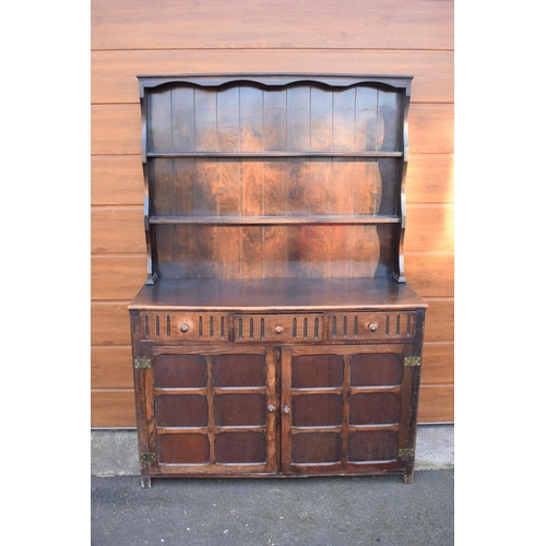
[[407,282],[427,300],[419,423],[453,422],[453,0],[92,0],[92,427],[134,427],[145,280],[136,74],[413,74]]

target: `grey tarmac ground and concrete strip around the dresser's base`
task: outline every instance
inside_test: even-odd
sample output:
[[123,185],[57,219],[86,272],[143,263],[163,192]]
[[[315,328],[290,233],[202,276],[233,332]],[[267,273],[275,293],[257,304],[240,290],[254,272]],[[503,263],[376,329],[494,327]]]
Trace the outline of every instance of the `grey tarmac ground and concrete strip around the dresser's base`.
[[401,476],[155,479],[142,489],[134,431],[93,431],[91,544],[452,545],[453,434],[418,428],[412,485]]

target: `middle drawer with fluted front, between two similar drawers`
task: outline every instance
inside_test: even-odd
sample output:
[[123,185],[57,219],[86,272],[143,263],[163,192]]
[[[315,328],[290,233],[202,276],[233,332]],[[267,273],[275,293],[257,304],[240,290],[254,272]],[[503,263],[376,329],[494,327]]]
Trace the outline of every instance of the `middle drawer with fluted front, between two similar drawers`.
[[304,343],[322,341],[323,317],[306,314],[235,314],[235,342]]

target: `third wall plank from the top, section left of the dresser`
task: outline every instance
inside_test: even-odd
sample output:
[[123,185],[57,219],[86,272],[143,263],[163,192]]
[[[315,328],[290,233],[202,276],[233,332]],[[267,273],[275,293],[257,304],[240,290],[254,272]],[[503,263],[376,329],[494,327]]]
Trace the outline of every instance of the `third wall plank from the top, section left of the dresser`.
[[140,106],[91,107],[92,155],[140,154],[141,135]]

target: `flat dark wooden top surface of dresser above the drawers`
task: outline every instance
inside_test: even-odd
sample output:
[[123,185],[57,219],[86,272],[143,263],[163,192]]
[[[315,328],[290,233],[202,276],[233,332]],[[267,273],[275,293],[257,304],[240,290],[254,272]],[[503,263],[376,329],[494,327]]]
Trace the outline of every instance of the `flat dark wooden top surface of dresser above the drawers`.
[[144,285],[130,310],[207,309],[309,311],[426,309],[407,285],[391,278],[159,280]]

